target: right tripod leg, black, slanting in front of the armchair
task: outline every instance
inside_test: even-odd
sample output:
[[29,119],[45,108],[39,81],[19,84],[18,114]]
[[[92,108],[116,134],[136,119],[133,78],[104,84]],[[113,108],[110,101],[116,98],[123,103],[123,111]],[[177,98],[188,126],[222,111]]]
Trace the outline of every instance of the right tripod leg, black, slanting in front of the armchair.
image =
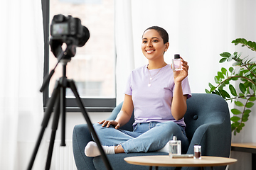
[[107,156],[106,156],[104,150],[102,149],[102,145],[100,144],[100,140],[97,137],[95,129],[92,126],[92,122],[90,121],[90,118],[89,118],[89,116],[87,114],[87,111],[85,110],[85,106],[83,106],[83,104],[82,104],[82,100],[81,100],[81,98],[80,98],[80,96],[78,94],[78,90],[75,87],[75,82],[73,80],[69,80],[68,83],[69,83],[70,89],[73,91],[73,94],[75,95],[75,99],[78,102],[78,105],[80,106],[80,109],[82,111],[82,115],[85,117],[85,120],[87,122],[88,128],[89,128],[90,132],[92,133],[92,136],[95,139],[95,142],[97,143],[97,147],[100,150],[100,155],[101,155],[101,157],[103,159],[103,162],[105,163],[105,166],[107,167],[108,170],[112,170],[110,162],[108,161]]

